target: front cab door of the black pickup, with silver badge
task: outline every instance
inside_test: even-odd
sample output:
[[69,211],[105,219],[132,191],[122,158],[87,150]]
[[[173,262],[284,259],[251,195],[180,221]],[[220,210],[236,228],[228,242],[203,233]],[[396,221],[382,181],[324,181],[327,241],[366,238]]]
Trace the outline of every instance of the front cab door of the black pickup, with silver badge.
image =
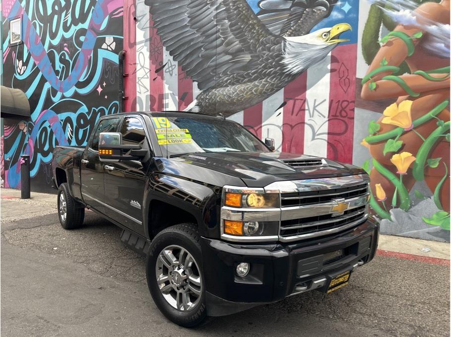
[[[149,148],[144,123],[140,116],[124,118],[119,132],[122,133],[124,145],[133,144]],[[142,202],[148,164],[135,160],[103,164],[107,215],[135,232],[144,234],[142,226],[144,205]]]

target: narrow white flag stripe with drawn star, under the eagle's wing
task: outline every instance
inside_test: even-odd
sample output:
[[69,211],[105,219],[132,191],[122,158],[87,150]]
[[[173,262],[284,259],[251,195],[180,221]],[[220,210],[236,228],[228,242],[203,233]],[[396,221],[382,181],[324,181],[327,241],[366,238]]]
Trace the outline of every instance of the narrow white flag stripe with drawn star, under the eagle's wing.
[[165,102],[164,106],[166,110],[177,111],[179,110],[179,66],[177,61],[174,61],[169,51],[163,48],[163,64],[164,67],[164,90],[165,90]]

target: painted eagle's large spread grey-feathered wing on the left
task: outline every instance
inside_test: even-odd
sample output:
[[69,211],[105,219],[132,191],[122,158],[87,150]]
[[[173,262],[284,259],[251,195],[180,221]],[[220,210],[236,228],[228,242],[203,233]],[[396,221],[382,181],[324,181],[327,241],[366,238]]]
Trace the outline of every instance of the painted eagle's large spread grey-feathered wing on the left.
[[246,0],[146,0],[163,45],[201,90],[243,71],[272,36]]

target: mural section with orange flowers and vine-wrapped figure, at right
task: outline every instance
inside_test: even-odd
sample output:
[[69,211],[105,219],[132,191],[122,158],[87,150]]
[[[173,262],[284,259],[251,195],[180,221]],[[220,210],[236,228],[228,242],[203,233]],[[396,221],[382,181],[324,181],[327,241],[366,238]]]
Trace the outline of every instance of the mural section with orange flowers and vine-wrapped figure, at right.
[[449,241],[450,1],[365,3],[360,20],[354,161],[371,207],[384,233]]

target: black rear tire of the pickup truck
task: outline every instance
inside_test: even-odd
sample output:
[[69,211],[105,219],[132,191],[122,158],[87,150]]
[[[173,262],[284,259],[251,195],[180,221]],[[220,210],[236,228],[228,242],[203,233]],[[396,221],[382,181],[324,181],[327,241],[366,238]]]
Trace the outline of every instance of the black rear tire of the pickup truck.
[[[63,200],[61,200],[61,195],[63,195]],[[62,183],[59,185],[58,189],[58,218],[59,223],[64,229],[74,229],[79,228],[83,225],[83,220],[85,218],[85,208],[83,205],[79,204],[72,198],[69,193],[69,188],[67,183]],[[64,217],[61,211],[61,204],[66,202],[66,216]]]

